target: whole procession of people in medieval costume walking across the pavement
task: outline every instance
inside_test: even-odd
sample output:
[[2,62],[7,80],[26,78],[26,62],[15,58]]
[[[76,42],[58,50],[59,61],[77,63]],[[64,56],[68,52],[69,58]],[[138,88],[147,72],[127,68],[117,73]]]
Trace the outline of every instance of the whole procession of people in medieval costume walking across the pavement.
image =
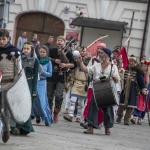
[[[136,122],[141,124],[141,119],[147,111],[146,95],[148,94],[147,101],[150,97],[148,93],[150,62],[143,60],[139,66],[135,56],[131,55],[128,58],[129,65],[124,70],[117,58],[120,46],[116,46],[111,51],[104,43],[100,43],[97,46],[97,56],[91,58],[87,56],[85,46],[76,51],[65,49],[64,36],[57,37],[57,48],[48,50],[47,46],[43,45],[38,51],[39,55],[36,55],[31,42],[25,42],[20,51],[10,44],[8,37],[9,31],[0,29],[0,70],[3,72],[0,109],[4,143],[9,140],[10,132],[16,135],[34,132],[31,122],[33,118],[36,118],[37,124],[42,119],[46,126],[58,122],[64,91],[66,92],[65,114],[68,114],[64,116],[64,119],[67,121],[73,121],[76,105],[76,122],[81,121],[87,99],[83,113],[84,122],[80,123],[87,129],[84,131],[85,134],[93,134],[94,128],[101,128],[103,123],[105,134],[111,135],[110,128],[114,125],[116,115],[118,116],[116,122],[120,123],[125,110],[125,125],[129,125],[130,121],[133,124]],[[11,115],[4,93],[14,83],[22,69],[24,69],[25,81],[27,80],[31,94],[32,113],[25,123],[18,124]],[[93,81],[104,76],[112,77],[116,83],[120,104],[119,107],[109,106],[98,110],[93,94]],[[53,106],[53,100],[55,100],[55,106]]]

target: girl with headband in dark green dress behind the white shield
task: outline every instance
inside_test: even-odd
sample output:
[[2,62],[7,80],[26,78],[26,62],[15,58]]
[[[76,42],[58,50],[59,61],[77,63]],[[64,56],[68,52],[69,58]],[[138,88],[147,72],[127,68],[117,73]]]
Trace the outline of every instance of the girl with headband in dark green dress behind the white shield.
[[[34,99],[37,96],[39,61],[35,57],[34,45],[31,42],[25,42],[22,51],[22,67],[25,70],[27,82],[32,96],[31,101],[33,104]],[[34,132],[31,117],[27,122],[23,124],[17,124],[16,127],[22,135],[27,135],[30,132]]]

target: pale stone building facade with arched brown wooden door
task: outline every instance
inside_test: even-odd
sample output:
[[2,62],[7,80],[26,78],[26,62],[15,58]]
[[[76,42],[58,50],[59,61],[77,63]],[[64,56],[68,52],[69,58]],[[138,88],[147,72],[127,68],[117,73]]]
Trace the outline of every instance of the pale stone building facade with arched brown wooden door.
[[[67,5],[67,7],[66,7]],[[69,7],[68,7],[69,6]],[[15,0],[10,4],[8,30],[12,37],[12,44],[16,45],[18,37],[27,31],[27,39],[32,39],[32,34],[37,33],[43,44],[49,35],[53,35],[54,46],[56,37],[74,32],[78,45],[88,46],[100,36],[108,35],[102,42],[113,49],[116,45],[124,45],[129,36],[131,18],[135,12],[128,55],[134,54],[140,58],[144,26],[146,21],[148,3],[146,1],[121,1],[121,0]],[[68,9],[69,8],[69,9]],[[77,18],[77,11],[81,17],[105,19],[110,21],[127,22],[121,31],[95,29],[71,26],[73,18]],[[81,39],[82,38],[82,39]],[[150,24],[146,29],[144,52],[150,55]]]

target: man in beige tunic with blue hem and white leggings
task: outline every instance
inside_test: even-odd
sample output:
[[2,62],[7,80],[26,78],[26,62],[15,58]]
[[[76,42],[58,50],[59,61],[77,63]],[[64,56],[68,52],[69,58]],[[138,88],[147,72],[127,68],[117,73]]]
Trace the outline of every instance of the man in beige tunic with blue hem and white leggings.
[[[87,48],[82,47],[81,56],[83,59],[83,63],[85,66],[88,65],[91,57],[86,56]],[[88,91],[88,75],[86,75],[80,67],[80,64],[77,63],[77,66],[74,70],[74,84],[71,90],[71,100],[69,107],[69,116],[64,116],[64,119],[72,122],[74,117],[75,104],[78,99],[78,107],[77,107],[77,116],[76,122],[80,122],[80,118],[82,115],[82,109],[84,107],[84,100],[87,99],[87,91]]]

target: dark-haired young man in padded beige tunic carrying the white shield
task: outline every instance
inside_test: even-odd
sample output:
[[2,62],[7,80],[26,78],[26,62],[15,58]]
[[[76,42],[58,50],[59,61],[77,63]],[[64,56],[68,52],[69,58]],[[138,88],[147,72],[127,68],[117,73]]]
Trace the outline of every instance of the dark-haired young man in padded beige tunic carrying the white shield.
[[[16,124],[12,117],[10,117],[10,112],[4,97],[4,92],[14,82],[15,76],[17,75],[18,71],[16,69],[15,62],[20,54],[20,50],[10,44],[8,37],[9,31],[0,29],[0,70],[3,72],[0,93],[0,108],[1,119],[3,123],[2,140],[4,143],[9,140],[10,126]],[[12,130],[12,132],[15,132],[15,128]]]

